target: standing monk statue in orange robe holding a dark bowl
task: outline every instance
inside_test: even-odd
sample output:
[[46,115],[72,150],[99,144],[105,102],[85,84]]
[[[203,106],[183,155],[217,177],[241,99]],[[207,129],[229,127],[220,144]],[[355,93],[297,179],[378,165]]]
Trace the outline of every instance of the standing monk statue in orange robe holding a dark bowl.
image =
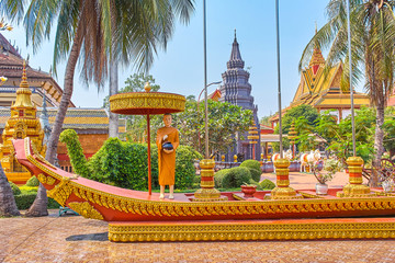
[[165,186],[169,185],[169,199],[173,199],[176,174],[176,149],[179,146],[179,132],[171,127],[171,114],[163,115],[165,127],[158,129],[156,144],[158,146],[159,164],[159,198],[165,198]]

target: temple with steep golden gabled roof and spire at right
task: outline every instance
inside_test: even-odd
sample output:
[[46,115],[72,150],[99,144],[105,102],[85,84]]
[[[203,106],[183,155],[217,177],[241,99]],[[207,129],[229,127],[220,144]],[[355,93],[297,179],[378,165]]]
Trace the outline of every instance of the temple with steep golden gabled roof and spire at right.
[[[335,110],[331,112],[338,119],[346,118],[351,114],[350,90],[340,89],[340,79],[343,70],[342,62],[330,68],[325,76],[325,59],[319,46],[316,44],[308,67],[302,70],[301,82],[296,89],[291,104],[282,110],[282,114],[301,104],[312,105],[318,112]],[[353,93],[354,108],[370,105],[369,98],[364,93]],[[279,115],[273,116],[270,122],[274,127],[279,122]]]

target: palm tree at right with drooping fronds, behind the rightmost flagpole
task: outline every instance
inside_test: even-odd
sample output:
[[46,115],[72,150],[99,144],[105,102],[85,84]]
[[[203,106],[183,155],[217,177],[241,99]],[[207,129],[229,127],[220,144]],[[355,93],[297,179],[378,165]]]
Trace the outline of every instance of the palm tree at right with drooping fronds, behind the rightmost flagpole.
[[[365,79],[364,88],[371,104],[376,108],[374,137],[374,167],[380,167],[384,152],[384,108],[394,85],[395,70],[395,16],[394,0],[350,0],[352,46],[352,84]],[[331,0],[327,5],[328,23],[307,44],[300,61],[300,70],[307,64],[315,45],[330,47],[326,70],[345,59],[341,88],[349,90],[347,0]],[[376,185],[377,175],[372,176]]]

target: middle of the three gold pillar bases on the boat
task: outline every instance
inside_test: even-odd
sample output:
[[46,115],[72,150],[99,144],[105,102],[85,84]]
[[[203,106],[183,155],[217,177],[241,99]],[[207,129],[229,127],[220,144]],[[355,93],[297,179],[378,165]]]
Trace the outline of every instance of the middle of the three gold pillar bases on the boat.
[[272,199],[294,199],[302,198],[296,191],[290,187],[290,161],[287,159],[278,159],[274,161],[276,186],[271,191]]

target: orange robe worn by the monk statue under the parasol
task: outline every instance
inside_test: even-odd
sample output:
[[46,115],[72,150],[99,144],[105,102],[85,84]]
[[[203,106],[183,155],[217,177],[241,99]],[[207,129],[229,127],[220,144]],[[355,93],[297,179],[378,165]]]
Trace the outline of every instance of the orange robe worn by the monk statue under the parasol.
[[[162,140],[163,136],[168,138]],[[170,141],[174,150],[166,153],[162,144]],[[158,146],[159,185],[174,185],[176,175],[176,149],[179,146],[179,132],[174,127],[162,127],[157,132],[156,144]]]

